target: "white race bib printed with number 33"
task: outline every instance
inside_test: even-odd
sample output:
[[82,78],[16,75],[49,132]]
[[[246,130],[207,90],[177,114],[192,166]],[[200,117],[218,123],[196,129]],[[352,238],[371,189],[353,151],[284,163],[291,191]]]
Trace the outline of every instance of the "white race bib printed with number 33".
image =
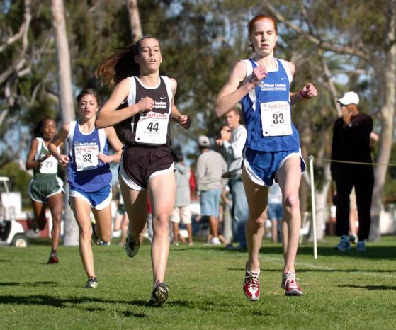
[[293,134],[291,126],[290,104],[286,101],[274,101],[260,104],[261,127],[264,137]]

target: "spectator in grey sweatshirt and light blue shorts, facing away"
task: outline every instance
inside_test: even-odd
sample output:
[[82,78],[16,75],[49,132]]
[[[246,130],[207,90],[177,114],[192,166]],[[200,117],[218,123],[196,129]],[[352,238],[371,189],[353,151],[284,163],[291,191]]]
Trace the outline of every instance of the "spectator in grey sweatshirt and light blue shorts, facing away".
[[200,215],[208,217],[212,239],[210,244],[220,245],[218,237],[220,195],[227,180],[222,174],[227,171],[227,164],[220,152],[210,149],[210,140],[206,135],[198,137],[200,156],[197,159],[196,189],[199,195]]

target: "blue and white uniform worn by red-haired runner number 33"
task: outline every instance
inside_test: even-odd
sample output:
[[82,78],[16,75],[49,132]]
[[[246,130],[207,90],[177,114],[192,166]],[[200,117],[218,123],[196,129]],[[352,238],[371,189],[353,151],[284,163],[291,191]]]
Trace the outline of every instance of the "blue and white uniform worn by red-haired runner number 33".
[[[247,76],[257,67],[253,59],[243,61]],[[298,131],[291,120],[290,84],[293,75],[288,62],[276,59],[277,69],[268,72],[254,93],[242,98],[242,110],[247,123],[244,167],[252,181],[271,186],[281,164],[294,154],[300,155]],[[258,109],[258,110],[256,110]],[[305,162],[301,159],[301,171]]]

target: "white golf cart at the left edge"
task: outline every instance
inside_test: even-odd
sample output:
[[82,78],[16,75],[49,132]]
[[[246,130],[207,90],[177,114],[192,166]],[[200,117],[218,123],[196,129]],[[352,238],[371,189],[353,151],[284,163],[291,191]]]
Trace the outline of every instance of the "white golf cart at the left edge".
[[0,246],[26,247],[29,244],[22,224],[15,220],[13,207],[4,203],[4,194],[11,201],[9,191],[9,178],[0,176]]

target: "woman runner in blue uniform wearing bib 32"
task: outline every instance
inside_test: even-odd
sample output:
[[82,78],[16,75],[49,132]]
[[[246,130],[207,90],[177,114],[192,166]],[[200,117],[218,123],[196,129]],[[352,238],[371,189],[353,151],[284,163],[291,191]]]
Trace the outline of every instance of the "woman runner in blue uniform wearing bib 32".
[[[120,161],[123,144],[113,127],[96,129],[99,96],[94,89],[85,89],[77,96],[78,120],[62,125],[49,149],[62,166],[67,166],[69,203],[79,224],[79,251],[88,276],[85,288],[96,288],[94,254],[91,238],[108,242],[111,239],[111,162]],[[67,140],[69,154],[57,152],[57,145]],[[108,143],[115,154],[108,154]],[[91,212],[94,224],[91,228]]]

